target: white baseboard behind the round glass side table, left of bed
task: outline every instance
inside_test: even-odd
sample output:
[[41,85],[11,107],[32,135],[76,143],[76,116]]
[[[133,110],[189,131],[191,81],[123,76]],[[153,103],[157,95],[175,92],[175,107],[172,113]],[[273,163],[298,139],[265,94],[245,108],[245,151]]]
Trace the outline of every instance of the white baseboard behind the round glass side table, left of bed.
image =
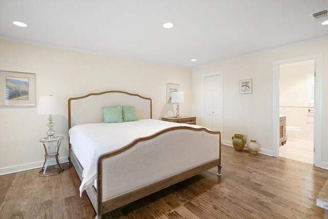
[[[20,171],[25,171],[25,170],[31,170],[35,168],[41,168],[43,166],[43,163],[45,161],[39,161],[39,162],[34,162],[34,163],[28,163],[28,164],[23,164],[23,165],[16,165],[16,166],[11,166],[11,167],[5,167],[0,169],[0,175],[5,175],[9,173],[16,173]],[[59,157],[59,163],[67,163],[68,162],[68,157]],[[55,165],[56,160],[49,160],[49,165]]]

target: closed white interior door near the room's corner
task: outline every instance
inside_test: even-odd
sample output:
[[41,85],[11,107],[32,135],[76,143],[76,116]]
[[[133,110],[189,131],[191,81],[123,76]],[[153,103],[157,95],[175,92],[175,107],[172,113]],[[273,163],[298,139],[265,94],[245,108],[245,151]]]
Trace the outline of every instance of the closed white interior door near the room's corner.
[[205,127],[222,132],[223,127],[222,75],[205,77]]

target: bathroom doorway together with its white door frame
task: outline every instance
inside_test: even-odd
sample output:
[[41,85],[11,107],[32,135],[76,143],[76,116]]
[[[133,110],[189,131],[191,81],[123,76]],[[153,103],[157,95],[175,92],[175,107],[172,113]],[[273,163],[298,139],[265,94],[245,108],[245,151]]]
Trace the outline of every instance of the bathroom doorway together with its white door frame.
[[[283,71],[287,71],[288,68],[293,66],[304,67],[306,65],[312,66],[309,67],[311,68],[312,72],[310,71],[306,73],[306,76],[305,73],[303,76],[295,73],[294,76],[289,77],[287,79],[283,79],[284,76],[291,76],[283,75]],[[308,163],[314,164],[316,167],[326,169],[328,168],[328,164],[323,162],[322,156],[322,68],[322,53],[282,59],[273,63],[272,155],[284,156],[284,154],[280,154],[280,151],[282,151],[282,153],[284,152],[285,154],[289,155],[288,158],[292,158],[294,160],[299,160],[302,162],[307,161]],[[297,70],[297,72],[300,72],[300,70]],[[304,83],[300,82],[301,78],[305,78]],[[299,83],[302,85],[302,88],[298,86]],[[288,92],[283,93],[284,91],[280,90],[280,86],[282,87],[282,89],[284,89],[283,87],[285,87]],[[282,92],[281,95],[280,92]],[[303,95],[299,95],[301,93],[303,93]],[[305,100],[302,100],[302,98],[305,98]],[[286,108],[283,109],[284,111],[282,110],[283,107]],[[293,113],[294,111],[296,111],[295,115]],[[300,120],[302,122],[297,122],[299,119],[298,117],[302,118],[302,120]],[[280,124],[284,122],[285,125],[281,126]],[[283,137],[285,138],[284,141]],[[310,149],[309,146],[303,146],[302,143],[304,142],[304,144],[309,145],[306,141],[310,143],[313,141],[313,150],[311,150],[312,148]],[[288,146],[288,143],[291,143],[290,145],[293,145],[293,142],[296,142],[297,144],[295,145],[297,146],[294,146],[294,150],[289,153],[288,147],[284,146]],[[296,157],[297,154],[300,155],[302,153],[299,151],[304,151],[302,148],[307,151],[305,152],[307,155],[303,157]],[[306,156],[309,160],[306,160]]]

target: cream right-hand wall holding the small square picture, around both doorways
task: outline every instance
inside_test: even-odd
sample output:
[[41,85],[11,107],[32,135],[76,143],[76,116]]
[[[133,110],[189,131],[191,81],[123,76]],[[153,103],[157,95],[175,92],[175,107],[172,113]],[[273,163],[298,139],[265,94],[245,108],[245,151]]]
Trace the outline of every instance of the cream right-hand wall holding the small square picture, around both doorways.
[[[223,51],[224,52],[224,51]],[[272,154],[273,62],[323,53],[322,157],[328,162],[328,39],[257,55],[193,68],[193,113],[203,125],[202,74],[223,71],[223,143],[231,144],[234,133],[255,138],[263,153]],[[240,79],[253,79],[253,93],[239,94]]]

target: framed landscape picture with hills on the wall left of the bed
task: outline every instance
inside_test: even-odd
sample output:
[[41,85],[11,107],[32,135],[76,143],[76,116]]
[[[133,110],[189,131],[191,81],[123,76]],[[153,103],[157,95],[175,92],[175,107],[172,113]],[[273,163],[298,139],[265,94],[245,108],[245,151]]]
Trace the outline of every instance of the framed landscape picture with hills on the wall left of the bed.
[[1,106],[35,106],[35,74],[0,71]]

